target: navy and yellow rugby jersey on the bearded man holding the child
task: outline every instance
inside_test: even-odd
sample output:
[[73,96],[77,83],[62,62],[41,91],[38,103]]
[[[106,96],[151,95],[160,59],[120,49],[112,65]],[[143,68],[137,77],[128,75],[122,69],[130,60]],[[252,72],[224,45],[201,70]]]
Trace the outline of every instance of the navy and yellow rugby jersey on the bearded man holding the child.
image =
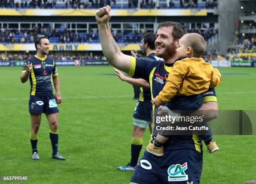
[[[164,61],[151,61],[149,62],[146,58],[135,58],[131,57],[131,66],[129,71],[129,76],[134,78],[145,79],[150,84],[151,89],[151,99],[155,98],[159,92],[163,89],[166,79],[165,74],[169,74],[172,70],[173,64],[164,64]],[[215,95],[215,89],[209,89],[207,92],[203,93],[204,102],[217,102]],[[153,114],[158,111],[157,107],[153,107]],[[156,137],[159,130],[156,130],[154,126],[155,118],[153,117],[154,127],[153,133],[151,135],[151,141]],[[166,150],[172,149],[182,149],[190,148],[202,152],[202,143],[199,135],[173,135],[165,143]]]

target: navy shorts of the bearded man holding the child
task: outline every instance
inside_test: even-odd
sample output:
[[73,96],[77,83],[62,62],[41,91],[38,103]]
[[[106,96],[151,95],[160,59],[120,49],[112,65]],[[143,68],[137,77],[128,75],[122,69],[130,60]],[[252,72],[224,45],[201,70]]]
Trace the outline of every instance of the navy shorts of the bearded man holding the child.
[[[147,151],[131,178],[138,184],[199,184],[202,173],[202,154],[192,149],[164,151],[155,156]],[[193,181],[193,182],[192,182]]]

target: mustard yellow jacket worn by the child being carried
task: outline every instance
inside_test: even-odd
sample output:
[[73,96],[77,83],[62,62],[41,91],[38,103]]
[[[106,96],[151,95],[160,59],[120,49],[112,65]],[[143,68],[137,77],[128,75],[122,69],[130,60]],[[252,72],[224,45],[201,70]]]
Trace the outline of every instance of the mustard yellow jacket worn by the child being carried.
[[218,69],[202,58],[184,58],[174,63],[172,70],[165,76],[167,82],[156,96],[159,104],[166,103],[176,95],[197,95],[216,87],[221,82]]

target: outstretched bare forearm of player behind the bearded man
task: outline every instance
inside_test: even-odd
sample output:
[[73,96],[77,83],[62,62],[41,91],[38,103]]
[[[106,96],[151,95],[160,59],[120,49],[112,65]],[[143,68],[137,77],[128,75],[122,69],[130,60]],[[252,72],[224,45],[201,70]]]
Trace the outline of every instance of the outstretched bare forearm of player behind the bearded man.
[[138,87],[146,87],[146,88],[149,87],[148,82],[146,82],[146,80],[144,80],[144,79],[134,79],[134,78],[125,76],[120,70],[118,70],[116,68],[114,68],[114,71],[115,71],[115,74],[122,81],[128,82],[128,83],[133,84],[133,85],[138,86]]

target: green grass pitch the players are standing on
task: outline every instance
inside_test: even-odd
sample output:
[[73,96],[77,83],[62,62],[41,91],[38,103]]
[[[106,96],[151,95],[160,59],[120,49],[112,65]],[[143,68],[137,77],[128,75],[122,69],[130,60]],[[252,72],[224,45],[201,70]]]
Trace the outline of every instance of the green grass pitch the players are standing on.
[[[220,110],[256,110],[256,69],[219,68]],[[0,67],[0,176],[29,176],[35,184],[127,184],[132,171],[118,171],[131,155],[133,87],[111,66],[58,67],[59,152],[51,158],[49,125],[43,116],[38,138],[40,161],[32,161],[29,141],[29,82],[20,67]],[[252,114],[254,112],[251,112]],[[215,135],[220,150],[204,146],[202,184],[241,184],[256,179],[256,135]],[[149,140],[146,130],[143,151]],[[141,151],[141,156],[143,151]],[[167,172],[167,171],[166,171]]]

